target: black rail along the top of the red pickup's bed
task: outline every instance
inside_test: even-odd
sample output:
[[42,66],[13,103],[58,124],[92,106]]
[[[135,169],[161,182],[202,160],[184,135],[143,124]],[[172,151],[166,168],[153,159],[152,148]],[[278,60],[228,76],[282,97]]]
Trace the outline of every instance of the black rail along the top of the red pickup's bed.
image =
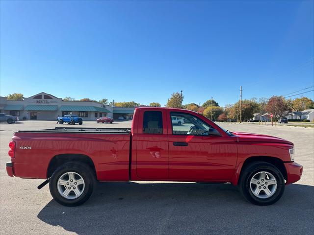
[[43,130],[19,130],[20,133],[93,133],[93,134],[130,134],[131,128],[94,128],[94,127],[55,127]]

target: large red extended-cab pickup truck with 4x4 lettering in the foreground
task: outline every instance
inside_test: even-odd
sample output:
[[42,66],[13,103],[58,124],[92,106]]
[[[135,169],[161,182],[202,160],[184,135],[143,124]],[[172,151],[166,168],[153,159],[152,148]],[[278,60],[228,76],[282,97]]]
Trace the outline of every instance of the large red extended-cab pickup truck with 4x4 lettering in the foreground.
[[131,129],[20,130],[9,148],[7,174],[47,179],[38,188],[49,183],[65,206],[85,202],[96,181],[130,180],[230,182],[248,201],[270,205],[302,175],[293,143],[230,132],[182,109],[136,108]]

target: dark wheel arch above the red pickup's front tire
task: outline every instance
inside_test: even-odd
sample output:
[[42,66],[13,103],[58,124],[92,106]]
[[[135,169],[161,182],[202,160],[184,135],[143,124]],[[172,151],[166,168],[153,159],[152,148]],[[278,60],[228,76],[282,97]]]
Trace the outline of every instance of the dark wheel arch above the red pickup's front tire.
[[241,174],[244,171],[244,169],[248,165],[250,165],[251,163],[254,163],[254,162],[257,162],[257,161],[273,164],[283,174],[284,179],[285,180],[288,179],[288,176],[287,176],[288,174],[287,174],[287,170],[286,170],[285,164],[284,164],[284,162],[280,158],[269,157],[269,156],[252,156],[252,157],[249,157],[249,158],[245,159],[245,161],[243,162],[242,166],[241,165],[238,166],[238,167],[240,167],[240,169],[236,170],[235,177],[234,177],[234,179],[232,181],[232,184],[238,185],[239,178],[241,177]]

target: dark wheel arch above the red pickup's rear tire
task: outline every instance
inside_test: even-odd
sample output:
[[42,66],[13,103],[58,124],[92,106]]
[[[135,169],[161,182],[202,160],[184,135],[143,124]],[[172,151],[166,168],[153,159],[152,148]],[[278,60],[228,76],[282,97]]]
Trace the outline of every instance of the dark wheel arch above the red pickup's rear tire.
[[51,177],[52,173],[55,171],[57,167],[68,162],[78,162],[78,163],[85,163],[89,165],[91,169],[93,170],[95,177],[97,177],[95,164],[89,156],[85,154],[67,153],[67,154],[55,155],[51,159],[47,168],[47,178]]

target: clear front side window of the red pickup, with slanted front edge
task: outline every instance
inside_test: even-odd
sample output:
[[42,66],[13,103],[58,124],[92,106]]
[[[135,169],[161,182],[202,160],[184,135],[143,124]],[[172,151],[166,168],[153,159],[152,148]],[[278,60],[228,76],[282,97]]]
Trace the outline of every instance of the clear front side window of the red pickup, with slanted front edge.
[[173,135],[208,136],[213,128],[191,114],[171,112],[171,124]]

